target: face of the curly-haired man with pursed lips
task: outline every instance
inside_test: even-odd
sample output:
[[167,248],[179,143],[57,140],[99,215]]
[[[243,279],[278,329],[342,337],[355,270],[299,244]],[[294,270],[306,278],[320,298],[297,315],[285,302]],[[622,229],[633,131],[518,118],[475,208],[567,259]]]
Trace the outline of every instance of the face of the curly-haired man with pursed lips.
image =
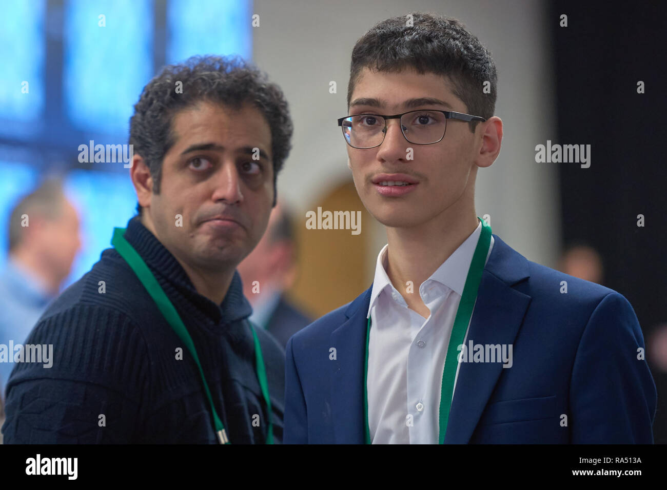
[[[257,245],[269,219],[269,125],[250,105],[235,110],[200,103],[177,113],[172,129],[175,144],[163,160],[160,193],[151,197],[159,239],[190,267],[233,269]],[[259,160],[252,158],[255,148]]]

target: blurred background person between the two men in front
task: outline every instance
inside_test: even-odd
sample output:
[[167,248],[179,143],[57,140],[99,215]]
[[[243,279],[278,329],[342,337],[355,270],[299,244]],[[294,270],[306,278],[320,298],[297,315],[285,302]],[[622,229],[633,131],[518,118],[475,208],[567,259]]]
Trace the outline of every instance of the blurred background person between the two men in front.
[[313,321],[285,297],[295,281],[296,261],[293,219],[284,203],[273,208],[266,232],[238,271],[243,295],[253,308],[250,321],[268,330],[283,347]]

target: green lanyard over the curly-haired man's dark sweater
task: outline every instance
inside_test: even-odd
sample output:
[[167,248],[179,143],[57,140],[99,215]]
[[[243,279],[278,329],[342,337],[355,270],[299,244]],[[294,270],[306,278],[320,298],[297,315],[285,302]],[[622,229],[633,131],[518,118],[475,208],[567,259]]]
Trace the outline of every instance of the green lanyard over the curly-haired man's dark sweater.
[[[173,331],[178,335],[181,341],[185,344],[187,349],[190,351],[197,368],[199,369],[199,375],[201,375],[201,382],[204,385],[204,391],[206,397],[211,405],[211,413],[213,413],[213,423],[215,426],[215,433],[221,444],[229,444],[229,439],[227,438],[227,432],[225,427],[220,420],[220,417],[217,416],[215,411],[215,406],[213,405],[213,398],[211,397],[211,390],[209,390],[208,383],[206,383],[206,378],[204,377],[203,369],[201,369],[201,363],[199,363],[199,356],[197,356],[197,351],[195,349],[195,343],[192,341],[192,337],[187,331],[185,324],[179,317],[178,312],[176,311],[173,303],[169,301],[169,298],[165,292],[160,287],[157,279],[151,273],[151,270],[148,268],[146,263],[141,258],[141,255],[129,244],[129,242],[123,237],[125,234],[125,228],[114,228],[113,229],[113,238],[111,239],[111,245],[113,245],[116,251],[125,259],[127,264],[131,267],[134,273],[143,284],[143,287],[146,288],[148,294],[151,295],[155,305],[162,313],[167,323],[171,326]],[[266,379],[266,370],[264,367],[264,359],[261,355],[261,347],[259,346],[259,339],[257,338],[257,333],[252,324],[250,324],[250,330],[252,331],[253,338],[255,339],[255,367],[257,369],[257,379],[259,380],[259,387],[261,387],[261,393],[264,397],[266,403],[267,413],[269,414],[269,427],[267,430],[266,443],[273,444],[273,424],[271,423],[271,400],[269,399],[269,386]]]

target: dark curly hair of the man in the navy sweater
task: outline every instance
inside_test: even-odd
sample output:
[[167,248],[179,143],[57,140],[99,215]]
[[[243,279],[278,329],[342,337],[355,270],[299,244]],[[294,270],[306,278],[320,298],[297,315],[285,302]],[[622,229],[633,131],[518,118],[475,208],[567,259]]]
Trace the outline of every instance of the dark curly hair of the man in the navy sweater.
[[[177,82],[182,84],[182,91],[176,90]],[[159,194],[162,161],[175,143],[173,117],[201,101],[232,109],[250,103],[264,115],[271,129],[275,206],[277,174],[291,149],[293,125],[289,107],[280,87],[237,56],[193,56],[184,63],[167,65],[143,87],[129,120],[129,143],[150,169],[153,193]],[[139,203],[137,213],[141,214]]]

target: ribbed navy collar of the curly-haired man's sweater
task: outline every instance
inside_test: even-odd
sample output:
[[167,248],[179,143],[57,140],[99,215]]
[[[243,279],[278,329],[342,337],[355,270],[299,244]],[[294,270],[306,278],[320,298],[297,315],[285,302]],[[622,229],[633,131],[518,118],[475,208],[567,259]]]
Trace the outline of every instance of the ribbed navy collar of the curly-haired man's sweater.
[[[234,321],[249,317],[252,307],[243,296],[243,283],[237,270],[227,289],[227,294],[222,303],[216,305],[207,297],[199,294],[192,281],[181,266],[179,261],[171,255],[171,252],[147,229],[139,216],[130,219],[125,229],[125,239],[141,255],[149,269],[164,289],[167,296],[176,303],[179,295],[187,302],[192,303],[195,308],[191,313],[200,320],[208,319],[215,325],[227,325]],[[173,291],[173,290],[176,291]],[[174,301],[172,291],[177,293],[177,301]]]

